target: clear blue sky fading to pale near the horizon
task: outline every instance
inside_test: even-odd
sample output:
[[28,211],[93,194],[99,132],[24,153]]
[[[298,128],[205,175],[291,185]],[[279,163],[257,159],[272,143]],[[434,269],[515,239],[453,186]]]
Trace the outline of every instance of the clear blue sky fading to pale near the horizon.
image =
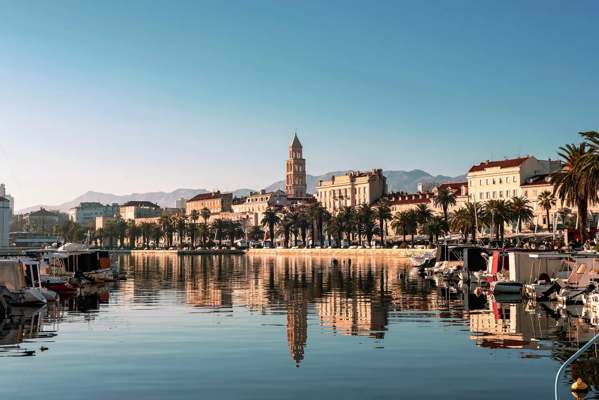
[[90,190],[260,189],[285,179],[296,129],[311,175],[556,158],[599,130],[598,11],[0,0],[0,182],[16,209]]

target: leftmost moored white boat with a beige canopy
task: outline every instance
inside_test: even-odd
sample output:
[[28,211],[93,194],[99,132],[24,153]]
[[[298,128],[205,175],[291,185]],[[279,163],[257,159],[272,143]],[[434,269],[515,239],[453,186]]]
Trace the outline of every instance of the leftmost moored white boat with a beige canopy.
[[7,299],[10,305],[47,303],[37,288],[27,287],[23,264],[19,260],[0,259],[0,286],[5,286],[14,295],[12,299]]

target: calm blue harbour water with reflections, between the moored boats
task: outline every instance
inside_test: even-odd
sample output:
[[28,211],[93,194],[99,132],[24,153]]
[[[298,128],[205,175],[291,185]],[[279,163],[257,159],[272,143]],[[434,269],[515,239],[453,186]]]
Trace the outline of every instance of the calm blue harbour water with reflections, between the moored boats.
[[[0,398],[547,399],[595,334],[580,307],[489,302],[406,258],[120,262],[126,281],[14,310]],[[599,384],[597,360],[592,347],[568,369],[562,398],[574,377]]]

